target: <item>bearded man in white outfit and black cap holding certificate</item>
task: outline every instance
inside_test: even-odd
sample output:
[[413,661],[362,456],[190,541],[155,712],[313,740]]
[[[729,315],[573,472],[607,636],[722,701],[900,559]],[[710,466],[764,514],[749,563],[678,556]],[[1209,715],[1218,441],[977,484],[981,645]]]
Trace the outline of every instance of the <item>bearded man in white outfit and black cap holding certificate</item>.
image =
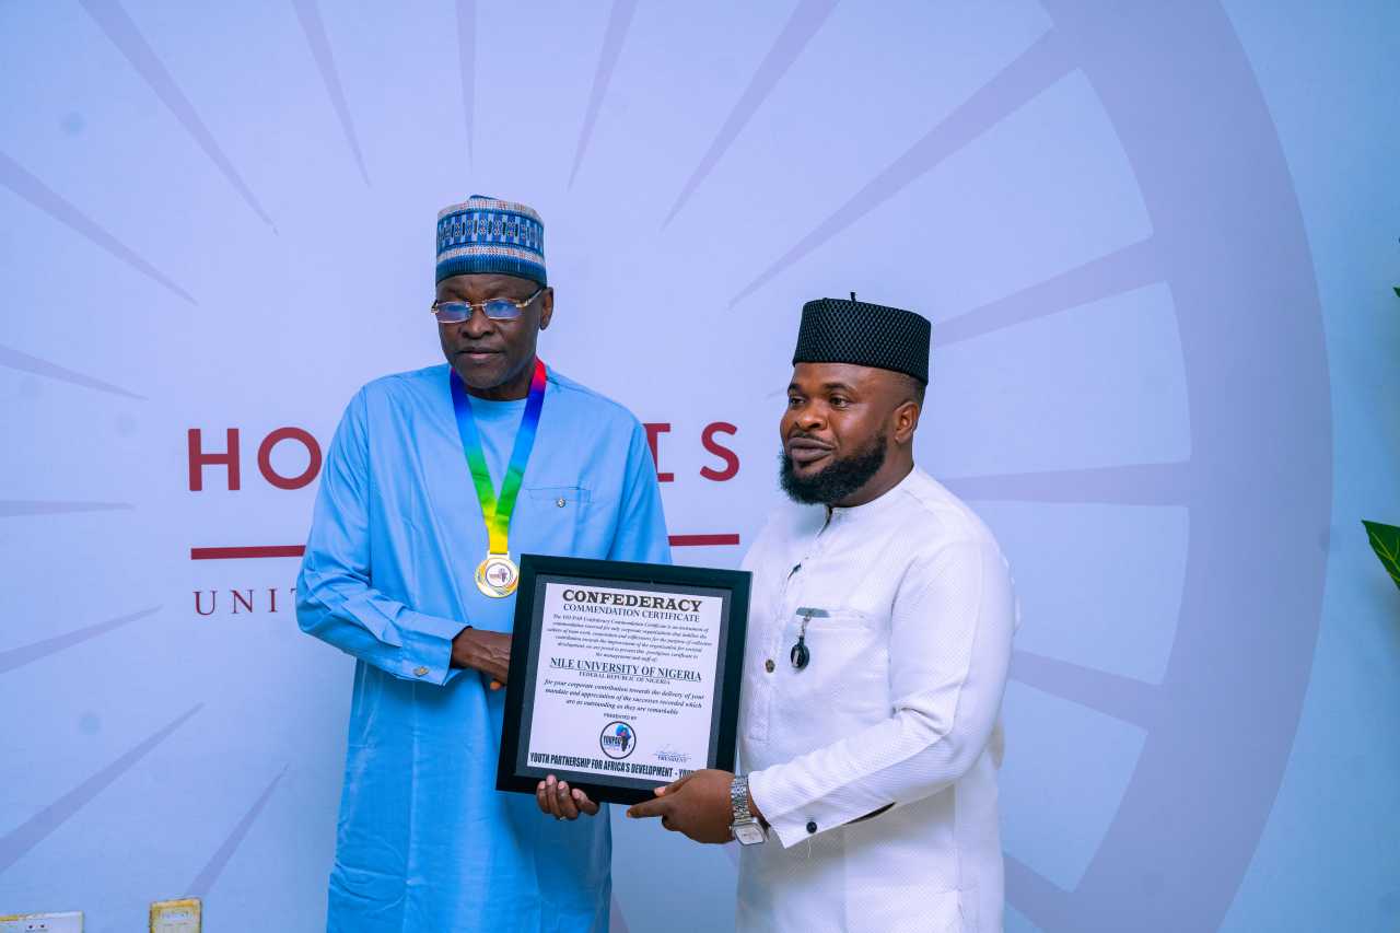
[[1018,623],[987,527],[914,466],[930,324],[802,308],[753,572],[739,761],[629,810],[741,842],[739,930],[1001,930],[1001,698]]

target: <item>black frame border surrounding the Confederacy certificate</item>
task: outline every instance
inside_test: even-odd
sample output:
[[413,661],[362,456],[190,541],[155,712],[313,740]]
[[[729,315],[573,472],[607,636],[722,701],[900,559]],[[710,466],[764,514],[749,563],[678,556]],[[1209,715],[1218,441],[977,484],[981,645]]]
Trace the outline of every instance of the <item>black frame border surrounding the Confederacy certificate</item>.
[[521,555],[521,579],[515,595],[515,623],[511,637],[510,675],[505,682],[505,710],[501,728],[501,756],[496,789],[535,793],[546,775],[554,775],[580,787],[598,803],[634,804],[652,797],[652,789],[671,778],[598,775],[568,768],[540,768],[526,761],[535,691],[539,675],[539,629],[543,605],[539,601],[547,583],[610,586],[652,590],[664,594],[704,594],[722,598],[720,640],[715,657],[713,706],[710,710],[710,754],[700,768],[734,770],[739,720],[739,684],[743,670],[743,643],[749,625],[752,574],[746,570],[686,567],[587,558]]

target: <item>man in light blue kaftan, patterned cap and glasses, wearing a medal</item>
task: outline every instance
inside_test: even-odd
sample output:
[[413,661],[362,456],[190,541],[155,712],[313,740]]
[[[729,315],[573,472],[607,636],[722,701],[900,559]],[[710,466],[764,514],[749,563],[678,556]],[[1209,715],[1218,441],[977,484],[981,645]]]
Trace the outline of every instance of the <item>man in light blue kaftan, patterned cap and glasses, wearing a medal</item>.
[[[524,388],[493,392],[473,378],[490,382],[477,371],[490,366],[511,370],[512,353],[533,367],[553,293],[538,230],[533,241],[518,235],[536,247],[538,270],[503,268],[498,247],[461,245],[463,213],[470,240],[473,214],[528,209],[477,198],[455,209],[445,237],[440,217],[434,305],[449,364],[375,380],[351,399],[326,455],[297,584],[301,628],[356,657],[328,930],[601,932],[610,904],[606,810],[550,820],[533,797],[496,790],[505,691],[493,679],[504,679],[504,668],[500,651],[486,664],[468,644],[493,639],[508,650],[507,636],[493,633],[511,630],[515,598],[486,595],[473,576],[487,527],[451,380],[472,394],[470,416],[500,489],[526,406],[510,396]],[[528,303],[517,300],[535,284]],[[521,308],[515,319],[487,317],[504,307],[503,289]],[[538,300],[542,291],[547,301]],[[493,304],[486,298],[496,304],[483,307]],[[455,308],[461,318],[463,304],[469,319],[444,312]],[[504,384],[519,384],[507,375]],[[553,370],[510,517],[510,552],[671,558],[641,424]]]

